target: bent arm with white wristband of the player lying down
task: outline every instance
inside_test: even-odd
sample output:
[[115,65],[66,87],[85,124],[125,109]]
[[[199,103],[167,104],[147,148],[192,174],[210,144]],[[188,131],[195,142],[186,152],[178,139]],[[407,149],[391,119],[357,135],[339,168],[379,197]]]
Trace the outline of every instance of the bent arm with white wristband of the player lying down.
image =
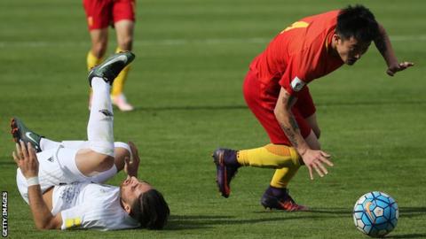
[[56,216],[43,201],[42,189],[38,183],[38,160],[36,150],[31,143],[26,146],[20,142],[16,144],[16,151],[12,153],[13,159],[20,167],[20,171],[28,181],[29,207],[33,213],[34,222],[38,229],[59,229],[62,225],[60,213]]

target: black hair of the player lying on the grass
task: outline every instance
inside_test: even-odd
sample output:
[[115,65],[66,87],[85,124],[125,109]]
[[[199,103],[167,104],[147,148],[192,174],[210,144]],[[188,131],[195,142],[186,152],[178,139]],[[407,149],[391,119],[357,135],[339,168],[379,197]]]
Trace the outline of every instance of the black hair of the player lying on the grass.
[[141,227],[160,230],[169,219],[169,205],[156,189],[141,194],[130,207],[130,217],[138,220]]

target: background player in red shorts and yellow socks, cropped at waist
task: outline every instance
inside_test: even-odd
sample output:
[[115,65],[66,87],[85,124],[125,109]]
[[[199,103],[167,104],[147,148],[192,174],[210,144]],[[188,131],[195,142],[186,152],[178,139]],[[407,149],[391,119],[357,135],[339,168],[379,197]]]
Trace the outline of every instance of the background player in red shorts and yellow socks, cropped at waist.
[[[102,63],[108,43],[108,27],[115,29],[117,48],[115,52],[132,50],[133,29],[135,26],[136,0],[83,0],[87,25],[91,35],[91,50],[87,54],[87,68]],[[129,112],[134,107],[127,102],[123,94],[124,83],[130,67],[122,70],[114,81],[111,89],[113,104],[123,112]],[[91,108],[91,96],[89,109]]]

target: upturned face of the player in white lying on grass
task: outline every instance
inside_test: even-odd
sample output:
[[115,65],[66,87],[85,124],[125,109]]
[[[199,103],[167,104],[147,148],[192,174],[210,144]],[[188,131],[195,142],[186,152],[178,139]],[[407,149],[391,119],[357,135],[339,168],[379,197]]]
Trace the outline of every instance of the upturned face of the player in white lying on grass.
[[124,202],[133,202],[146,191],[153,189],[153,187],[146,181],[139,181],[135,177],[127,177],[120,185],[121,197]]

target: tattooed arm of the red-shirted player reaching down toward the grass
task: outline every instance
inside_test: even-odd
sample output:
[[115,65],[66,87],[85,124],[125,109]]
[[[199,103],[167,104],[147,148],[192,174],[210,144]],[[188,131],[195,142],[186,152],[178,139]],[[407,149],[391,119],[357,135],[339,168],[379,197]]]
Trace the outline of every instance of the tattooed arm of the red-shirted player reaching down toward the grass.
[[275,117],[280,123],[280,127],[287,135],[288,140],[293,144],[304,160],[304,165],[308,167],[311,180],[313,180],[313,170],[315,170],[320,177],[323,177],[328,173],[324,164],[333,166],[333,163],[329,160],[330,155],[322,150],[312,150],[308,143],[306,143],[297,126],[296,119],[291,112],[291,107],[295,103],[296,98],[292,98],[286,89],[281,88],[280,96],[278,97],[274,109]]

